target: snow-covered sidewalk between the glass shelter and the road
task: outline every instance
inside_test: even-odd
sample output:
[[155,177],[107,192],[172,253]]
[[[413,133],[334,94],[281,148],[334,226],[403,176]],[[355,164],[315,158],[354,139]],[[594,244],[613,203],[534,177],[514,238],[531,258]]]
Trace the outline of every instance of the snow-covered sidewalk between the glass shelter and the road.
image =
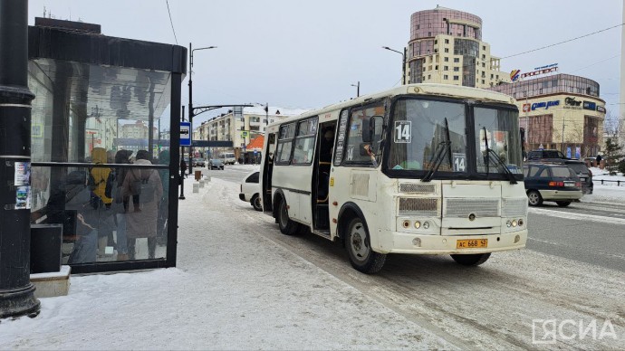
[[246,230],[273,220],[237,184],[214,178],[179,204],[178,268],[72,276],[36,318],[0,322],[0,349],[454,348]]

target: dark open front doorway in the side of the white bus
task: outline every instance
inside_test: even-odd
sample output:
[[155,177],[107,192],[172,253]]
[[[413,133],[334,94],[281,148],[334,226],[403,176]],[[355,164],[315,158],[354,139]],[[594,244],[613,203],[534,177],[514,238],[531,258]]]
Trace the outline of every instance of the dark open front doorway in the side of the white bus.
[[316,231],[328,231],[330,234],[330,171],[332,153],[336,135],[336,122],[320,124],[317,128],[317,152],[312,170],[312,216],[313,228]]

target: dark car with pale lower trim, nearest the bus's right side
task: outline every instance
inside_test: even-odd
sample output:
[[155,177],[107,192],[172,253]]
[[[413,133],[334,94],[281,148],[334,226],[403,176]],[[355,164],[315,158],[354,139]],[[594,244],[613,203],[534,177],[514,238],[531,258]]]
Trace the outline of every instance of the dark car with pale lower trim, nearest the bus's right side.
[[565,207],[582,198],[582,181],[566,165],[530,163],[523,166],[527,201],[539,206],[543,201],[554,201]]

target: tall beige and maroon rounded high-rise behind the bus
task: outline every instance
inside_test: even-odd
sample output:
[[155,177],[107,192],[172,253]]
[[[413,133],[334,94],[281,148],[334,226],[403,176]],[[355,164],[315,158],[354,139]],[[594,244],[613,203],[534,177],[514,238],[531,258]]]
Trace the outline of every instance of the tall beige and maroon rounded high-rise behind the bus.
[[482,42],[482,19],[437,6],[410,16],[409,83],[447,83],[487,88],[510,81]]

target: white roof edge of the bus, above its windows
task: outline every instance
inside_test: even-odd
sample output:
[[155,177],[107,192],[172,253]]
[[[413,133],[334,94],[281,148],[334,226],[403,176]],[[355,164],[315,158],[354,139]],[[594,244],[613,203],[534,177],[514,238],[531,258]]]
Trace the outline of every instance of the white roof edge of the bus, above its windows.
[[288,123],[292,120],[303,119],[306,117],[312,117],[321,115],[323,113],[332,112],[338,109],[344,109],[346,107],[361,105],[367,103],[370,100],[378,100],[387,96],[395,96],[395,95],[406,95],[406,94],[415,94],[415,95],[436,95],[436,96],[446,96],[451,98],[458,99],[474,99],[479,101],[487,101],[487,102],[499,102],[505,104],[514,105],[515,100],[510,95],[506,95],[501,92],[496,92],[492,90],[484,90],[479,88],[471,88],[471,87],[462,87],[458,85],[451,84],[434,84],[434,83],[422,83],[422,84],[408,84],[402,85],[397,88],[392,88],[389,90],[383,90],[380,92],[376,92],[369,95],[362,95],[361,97],[341,101],[339,103],[335,103],[332,105],[328,105],[322,109],[312,109],[308,112],[304,112],[303,114],[295,117],[291,117],[288,119],[281,119],[272,125],[282,125],[284,123]]

